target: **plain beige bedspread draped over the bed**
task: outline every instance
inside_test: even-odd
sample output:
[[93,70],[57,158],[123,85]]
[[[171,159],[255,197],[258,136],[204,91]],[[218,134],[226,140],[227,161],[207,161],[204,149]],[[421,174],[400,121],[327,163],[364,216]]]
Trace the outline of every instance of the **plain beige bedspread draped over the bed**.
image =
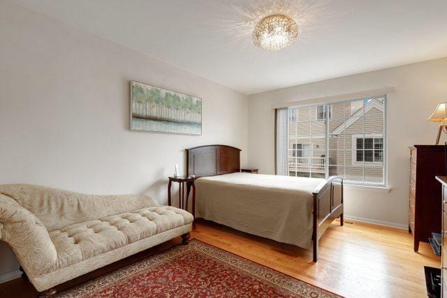
[[312,191],[325,179],[233,173],[196,180],[196,217],[309,248]]

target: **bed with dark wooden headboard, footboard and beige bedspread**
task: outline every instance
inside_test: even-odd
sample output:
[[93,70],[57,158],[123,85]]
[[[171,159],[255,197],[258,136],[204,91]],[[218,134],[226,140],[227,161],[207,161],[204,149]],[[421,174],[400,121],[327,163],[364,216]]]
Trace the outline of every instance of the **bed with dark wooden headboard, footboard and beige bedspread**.
[[[197,218],[302,248],[313,248],[340,218],[343,179],[240,172],[240,149],[207,145],[186,149],[187,174],[195,175]],[[316,212],[314,212],[314,210]]]

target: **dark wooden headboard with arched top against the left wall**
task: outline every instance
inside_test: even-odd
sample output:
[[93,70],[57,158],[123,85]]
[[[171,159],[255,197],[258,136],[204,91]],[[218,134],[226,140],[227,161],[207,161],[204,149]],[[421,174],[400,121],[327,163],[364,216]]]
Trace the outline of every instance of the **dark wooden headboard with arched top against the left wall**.
[[186,149],[186,174],[205,177],[240,172],[240,151],[226,145]]

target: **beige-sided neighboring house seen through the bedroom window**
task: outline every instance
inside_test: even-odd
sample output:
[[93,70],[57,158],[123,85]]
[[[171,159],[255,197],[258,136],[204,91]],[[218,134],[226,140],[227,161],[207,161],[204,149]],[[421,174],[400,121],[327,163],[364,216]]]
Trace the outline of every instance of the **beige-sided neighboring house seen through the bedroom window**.
[[[291,176],[383,181],[383,98],[327,106],[329,150],[326,151],[325,106],[289,108],[288,169]],[[365,171],[365,172],[363,172]]]

